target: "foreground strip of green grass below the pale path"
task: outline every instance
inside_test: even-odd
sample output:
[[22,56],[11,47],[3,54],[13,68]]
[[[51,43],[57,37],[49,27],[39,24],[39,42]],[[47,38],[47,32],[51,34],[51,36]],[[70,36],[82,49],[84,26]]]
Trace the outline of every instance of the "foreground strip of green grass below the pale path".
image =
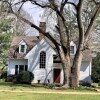
[[100,95],[0,93],[0,100],[100,100]]

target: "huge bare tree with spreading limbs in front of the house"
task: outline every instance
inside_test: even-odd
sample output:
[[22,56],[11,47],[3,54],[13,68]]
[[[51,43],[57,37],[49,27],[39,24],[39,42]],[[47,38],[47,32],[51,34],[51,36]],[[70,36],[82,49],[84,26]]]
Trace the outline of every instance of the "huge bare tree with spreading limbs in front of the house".
[[[6,0],[2,0],[4,2],[8,2]],[[10,1],[10,0],[9,0]],[[89,38],[89,35],[92,31],[94,21],[96,16],[100,11],[100,2],[99,0],[91,0],[87,2],[93,2],[94,7],[90,13],[90,20],[87,27],[84,30],[83,27],[83,9],[84,9],[84,2],[86,0],[78,0],[77,3],[71,2],[69,0],[19,0],[17,3],[8,2],[10,8],[13,8],[13,5],[20,4],[20,8],[23,6],[24,3],[30,1],[33,5],[37,5],[43,9],[48,8],[55,12],[57,18],[57,25],[55,26],[59,36],[60,36],[60,43],[56,41],[54,37],[50,35],[49,32],[45,32],[41,30],[38,26],[33,24],[30,20],[25,19],[24,16],[21,16],[19,13],[16,13],[13,9],[11,12],[18,16],[21,20],[29,24],[31,27],[37,29],[43,35],[45,35],[48,39],[52,41],[55,45],[59,57],[61,58],[63,71],[64,71],[64,87],[78,87],[79,86],[79,72],[80,72],[80,65],[82,61],[82,52],[86,49],[86,44]],[[67,19],[65,15],[66,5],[72,5],[75,14],[76,20],[78,25],[78,47],[76,50],[76,54],[74,56],[73,64],[71,66],[70,63],[70,32],[68,29]],[[86,12],[87,13],[87,12]],[[74,35],[74,34],[73,34]],[[71,71],[72,70],[72,71]],[[71,73],[72,72],[72,73]]]

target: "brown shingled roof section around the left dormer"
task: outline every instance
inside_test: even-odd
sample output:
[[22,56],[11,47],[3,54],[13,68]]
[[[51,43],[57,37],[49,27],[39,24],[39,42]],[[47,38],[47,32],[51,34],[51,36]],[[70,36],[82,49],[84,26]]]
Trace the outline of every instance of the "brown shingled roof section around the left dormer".
[[23,58],[26,54],[24,53],[20,53],[19,54],[19,43],[21,41],[25,41],[25,43],[27,44],[27,50],[26,53],[28,53],[33,46],[35,46],[38,42],[39,39],[36,36],[16,36],[13,38],[11,46],[10,46],[10,50],[9,50],[9,58],[17,58],[17,59],[21,59]]

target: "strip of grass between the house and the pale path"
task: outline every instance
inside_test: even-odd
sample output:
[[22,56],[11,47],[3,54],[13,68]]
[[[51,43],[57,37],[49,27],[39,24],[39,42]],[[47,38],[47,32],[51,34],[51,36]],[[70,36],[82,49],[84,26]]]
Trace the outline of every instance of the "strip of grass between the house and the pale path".
[[25,84],[14,84],[10,82],[4,82],[0,80],[1,90],[21,90],[21,91],[64,91],[64,92],[96,92],[93,88],[79,87],[75,89],[65,89],[65,90],[55,90],[48,89],[48,87],[43,85],[25,85]]

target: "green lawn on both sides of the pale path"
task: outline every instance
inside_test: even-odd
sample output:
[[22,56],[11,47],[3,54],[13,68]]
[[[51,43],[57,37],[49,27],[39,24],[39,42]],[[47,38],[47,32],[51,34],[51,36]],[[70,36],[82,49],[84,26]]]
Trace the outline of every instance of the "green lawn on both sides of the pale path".
[[48,89],[46,86],[41,85],[21,85],[7,83],[0,81],[0,90],[10,91],[22,91],[22,93],[15,92],[0,92],[0,100],[100,100],[99,94],[53,94],[53,93],[23,93],[24,91],[46,91],[46,92],[96,92],[95,89],[91,88],[77,88],[77,89],[66,89],[66,90],[55,90]]

